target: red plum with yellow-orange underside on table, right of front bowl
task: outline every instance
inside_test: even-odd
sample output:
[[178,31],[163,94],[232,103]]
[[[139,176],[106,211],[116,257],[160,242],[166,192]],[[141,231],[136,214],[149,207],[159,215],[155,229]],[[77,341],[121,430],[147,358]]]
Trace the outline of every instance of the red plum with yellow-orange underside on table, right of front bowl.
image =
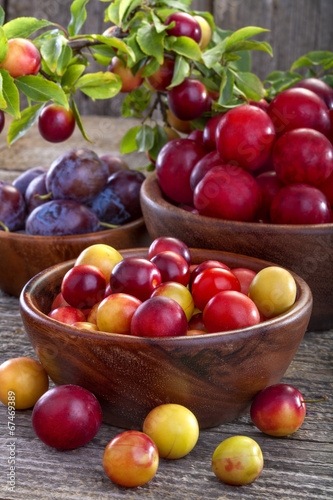
[[299,429],[306,414],[302,394],[288,384],[275,384],[259,392],[251,405],[254,425],[270,436],[288,436]]

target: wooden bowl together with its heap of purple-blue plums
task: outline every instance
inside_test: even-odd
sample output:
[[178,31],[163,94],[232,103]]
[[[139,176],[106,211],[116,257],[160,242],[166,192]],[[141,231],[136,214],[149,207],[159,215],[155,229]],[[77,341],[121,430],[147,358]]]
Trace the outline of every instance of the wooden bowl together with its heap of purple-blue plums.
[[35,274],[96,242],[146,244],[144,179],[121,157],[81,148],[0,181],[0,288],[19,296]]

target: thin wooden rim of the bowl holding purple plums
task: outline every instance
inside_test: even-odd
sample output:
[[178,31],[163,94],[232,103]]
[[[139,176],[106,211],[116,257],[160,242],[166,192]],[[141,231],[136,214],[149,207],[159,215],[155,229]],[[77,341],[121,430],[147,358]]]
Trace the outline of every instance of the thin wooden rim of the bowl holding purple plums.
[[54,235],[38,235],[38,234],[27,234],[27,233],[20,233],[18,231],[0,231],[0,238],[8,238],[13,241],[36,241],[39,242],[40,240],[42,241],[52,241],[54,239],[62,238],[64,242],[70,243],[72,241],[76,241],[82,238],[89,238],[89,237],[98,237],[98,235],[102,236],[108,236],[109,234],[112,233],[120,233],[124,229],[125,230],[131,230],[135,229],[137,227],[140,227],[144,225],[144,217],[141,216],[138,219],[135,219],[134,221],[128,222],[126,224],[121,224],[117,227],[110,228],[110,229],[101,229],[100,231],[95,231],[93,233],[80,233],[80,234],[54,234]]

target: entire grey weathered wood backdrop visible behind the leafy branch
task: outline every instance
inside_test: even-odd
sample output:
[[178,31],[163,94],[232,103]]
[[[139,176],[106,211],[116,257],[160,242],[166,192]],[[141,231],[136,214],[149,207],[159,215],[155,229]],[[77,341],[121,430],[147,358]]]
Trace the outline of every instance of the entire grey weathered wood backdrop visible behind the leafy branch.
[[[35,16],[66,26],[70,20],[72,0],[0,0],[6,20],[18,16]],[[107,4],[91,0],[87,4],[86,32],[101,33],[106,28],[104,9]],[[262,34],[274,51],[253,55],[253,71],[265,78],[271,71],[287,70],[293,61],[312,50],[333,50],[333,0],[193,0],[193,9],[210,11],[224,29],[260,26],[270,31]],[[80,95],[83,114],[119,115],[121,96],[109,101],[92,102]]]

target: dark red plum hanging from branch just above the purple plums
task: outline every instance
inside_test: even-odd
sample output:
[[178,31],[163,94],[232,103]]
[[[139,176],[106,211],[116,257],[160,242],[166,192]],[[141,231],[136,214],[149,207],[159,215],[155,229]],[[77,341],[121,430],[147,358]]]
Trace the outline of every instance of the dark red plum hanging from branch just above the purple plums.
[[69,139],[75,129],[74,113],[57,104],[46,106],[38,118],[38,130],[46,141],[58,143]]

